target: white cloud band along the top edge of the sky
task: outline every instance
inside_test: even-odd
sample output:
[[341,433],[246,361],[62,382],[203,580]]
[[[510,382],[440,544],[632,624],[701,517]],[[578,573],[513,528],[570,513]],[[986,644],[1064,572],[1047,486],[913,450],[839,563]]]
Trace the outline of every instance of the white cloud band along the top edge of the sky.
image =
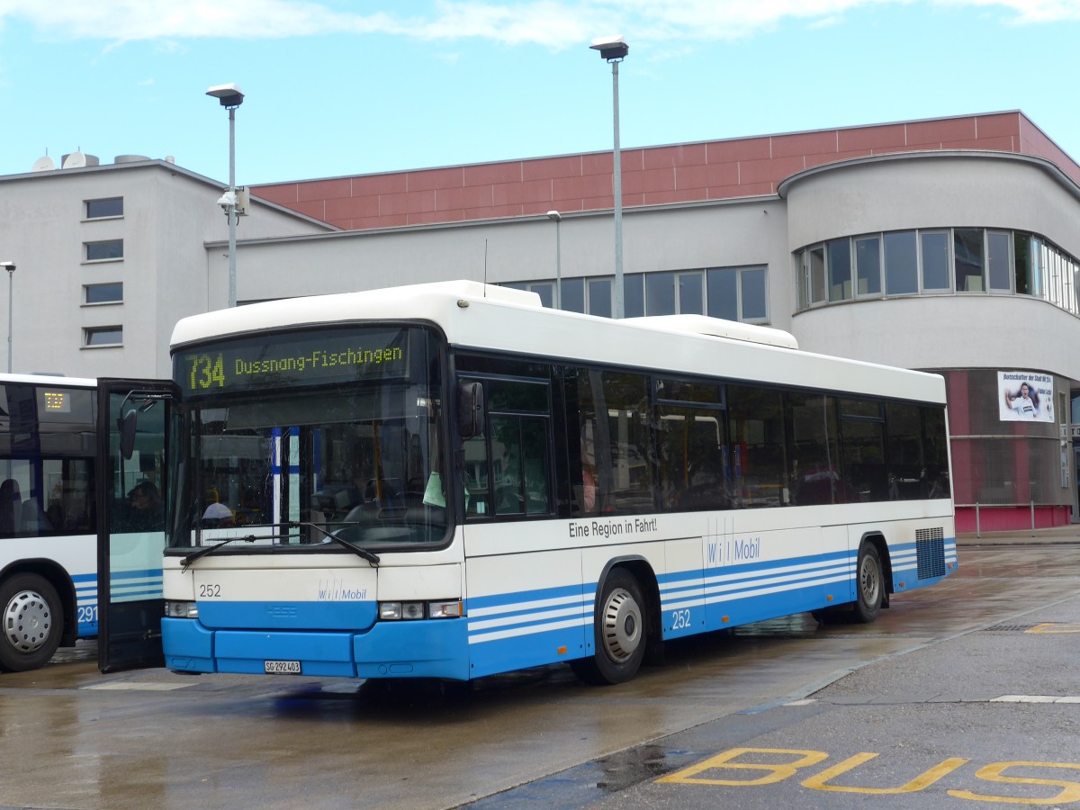
[[916,3],[998,11],[1015,24],[1080,21],[1080,0],[435,0],[404,5],[407,12],[401,10],[403,4],[387,2],[386,10],[366,14],[337,0],[185,0],[167,5],[146,0],[0,0],[0,23],[21,19],[42,36],[110,42],[351,32],[562,49],[586,42],[597,31],[633,33],[638,41],[726,40],[769,30],[785,19],[827,25],[860,8]]

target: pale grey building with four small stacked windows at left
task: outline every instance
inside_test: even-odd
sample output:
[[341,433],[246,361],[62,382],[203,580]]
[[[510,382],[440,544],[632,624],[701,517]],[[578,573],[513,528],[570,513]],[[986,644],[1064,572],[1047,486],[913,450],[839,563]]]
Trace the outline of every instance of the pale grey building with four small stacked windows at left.
[[[5,280],[11,370],[167,377],[177,319],[228,300],[228,274],[211,272],[207,247],[227,233],[215,205],[221,184],[171,160],[78,162],[87,165],[0,177],[0,260],[16,267]],[[336,230],[264,201],[242,228],[251,237]]]

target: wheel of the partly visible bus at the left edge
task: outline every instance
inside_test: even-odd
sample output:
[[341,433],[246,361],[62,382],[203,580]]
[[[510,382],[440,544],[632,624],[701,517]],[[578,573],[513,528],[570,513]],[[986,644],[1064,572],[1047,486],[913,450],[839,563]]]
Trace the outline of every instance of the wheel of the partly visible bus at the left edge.
[[26,672],[49,662],[64,635],[56,589],[36,573],[16,573],[0,584],[0,670]]

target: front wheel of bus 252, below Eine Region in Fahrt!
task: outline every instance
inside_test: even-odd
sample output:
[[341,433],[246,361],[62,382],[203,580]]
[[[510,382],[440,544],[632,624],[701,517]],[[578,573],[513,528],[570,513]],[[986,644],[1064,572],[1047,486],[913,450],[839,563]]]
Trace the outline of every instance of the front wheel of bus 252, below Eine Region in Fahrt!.
[[625,568],[612,568],[604,580],[593,633],[596,652],[570,662],[577,676],[600,686],[633,678],[645,658],[648,615],[642,586]]

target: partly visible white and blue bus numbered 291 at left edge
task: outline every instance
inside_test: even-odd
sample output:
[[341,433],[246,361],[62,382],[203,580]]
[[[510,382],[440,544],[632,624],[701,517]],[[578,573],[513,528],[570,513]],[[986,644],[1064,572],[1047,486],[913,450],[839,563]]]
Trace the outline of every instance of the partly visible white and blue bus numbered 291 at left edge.
[[[98,395],[92,379],[0,375],[0,671],[37,669],[60,645],[98,634],[98,487],[146,492],[160,481],[160,454],[126,472],[103,467]],[[163,523],[163,508],[148,505]],[[120,549],[126,527],[113,528]],[[144,561],[118,553],[118,598],[160,593],[160,555]]]

